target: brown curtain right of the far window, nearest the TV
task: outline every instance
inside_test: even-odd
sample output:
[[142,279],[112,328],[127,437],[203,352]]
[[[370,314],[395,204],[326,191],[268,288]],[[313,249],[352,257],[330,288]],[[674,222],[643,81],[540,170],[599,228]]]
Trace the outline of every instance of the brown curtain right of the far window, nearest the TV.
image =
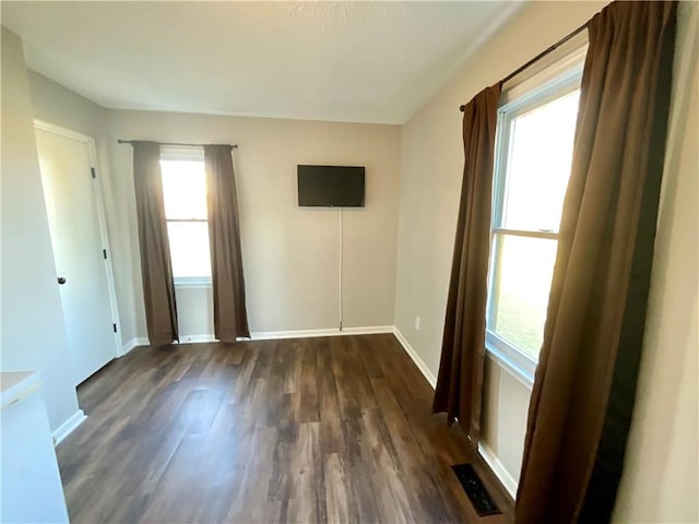
[[214,295],[214,333],[222,342],[250,336],[245,307],[238,200],[230,145],[205,145],[209,245]]

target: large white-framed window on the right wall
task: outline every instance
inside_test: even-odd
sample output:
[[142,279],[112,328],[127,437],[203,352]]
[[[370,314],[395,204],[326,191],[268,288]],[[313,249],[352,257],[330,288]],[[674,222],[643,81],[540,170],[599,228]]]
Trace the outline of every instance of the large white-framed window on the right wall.
[[486,346],[528,381],[543,342],[580,75],[568,70],[499,110]]

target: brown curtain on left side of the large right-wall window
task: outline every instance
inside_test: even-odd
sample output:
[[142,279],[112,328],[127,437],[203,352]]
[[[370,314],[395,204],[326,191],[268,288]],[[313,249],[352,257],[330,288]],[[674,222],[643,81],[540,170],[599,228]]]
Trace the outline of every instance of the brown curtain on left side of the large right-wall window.
[[447,412],[450,422],[458,418],[474,446],[481,429],[490,200],[499,98],[498,84],[478,93],[464,108],[465,164],[433,406],[435,413]]

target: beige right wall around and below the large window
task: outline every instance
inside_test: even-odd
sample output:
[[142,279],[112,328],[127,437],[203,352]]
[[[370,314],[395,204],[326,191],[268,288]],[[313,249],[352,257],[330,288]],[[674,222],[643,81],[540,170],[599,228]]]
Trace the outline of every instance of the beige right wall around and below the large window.
[[[434,374],[439,369],[463,174],[459,106],[583,24],[605,3],[523,7],[403,126],[395,325]],[[419,331],[414,326],[416,315]],[[530,390],[495,361],[488,362],[486,373],[484,441],[517,479]]]

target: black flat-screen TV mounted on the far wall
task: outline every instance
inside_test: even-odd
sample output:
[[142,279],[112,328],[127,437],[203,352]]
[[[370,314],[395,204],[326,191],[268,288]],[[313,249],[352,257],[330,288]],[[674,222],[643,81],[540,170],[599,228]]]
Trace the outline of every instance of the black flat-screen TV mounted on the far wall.
[[364,207],[364,167],[297,166],[301,207]]

